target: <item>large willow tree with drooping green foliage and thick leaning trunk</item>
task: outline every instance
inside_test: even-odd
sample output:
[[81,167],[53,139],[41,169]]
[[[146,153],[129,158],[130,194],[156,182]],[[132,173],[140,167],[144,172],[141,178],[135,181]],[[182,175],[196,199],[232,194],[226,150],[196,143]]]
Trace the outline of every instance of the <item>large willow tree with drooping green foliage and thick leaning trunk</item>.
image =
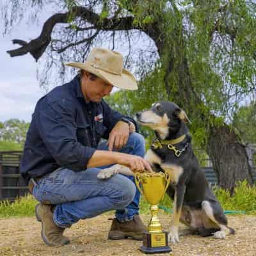
[[[45,59],[42,81],[64,61],[83,61],[92,46],[126,52],[125,65],[143,81],[136,97],[177,102],[193,120],[191,130],[212,159],[220,186],[252,184],[244,146],[228,124],[237,104],[255,92],[255,10],[253,1],[120,0],[5,1],[6,33],[51,5],[42,32],[10,56]],[[48,8],[49,10],[50,8]],[[124,51],[127,50],[127,51]],[[147,82],[147,83],[146,83]],[[135,96],[134,96],[135,97]]]

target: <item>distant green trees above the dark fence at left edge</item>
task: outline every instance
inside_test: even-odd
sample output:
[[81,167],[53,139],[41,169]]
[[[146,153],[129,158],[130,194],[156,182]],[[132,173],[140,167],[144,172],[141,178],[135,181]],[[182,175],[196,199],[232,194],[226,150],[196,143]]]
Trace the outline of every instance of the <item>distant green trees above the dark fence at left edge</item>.
[[[10,119],[0,125],[0,143],[7,147],[17,144],[22,147],[26,139],[29,123],[19,119]],[[4,142],[6,141],[6,142]],[[8,146],[8,141],[10,145]],[[17,147],[17,146],[15,146]]]

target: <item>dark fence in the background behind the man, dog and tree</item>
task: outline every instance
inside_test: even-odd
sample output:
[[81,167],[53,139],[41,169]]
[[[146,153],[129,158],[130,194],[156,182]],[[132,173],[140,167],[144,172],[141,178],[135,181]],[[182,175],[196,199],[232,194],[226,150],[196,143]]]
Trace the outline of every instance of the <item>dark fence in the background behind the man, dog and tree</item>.
[[[17,196],[28,193],[28,187],[20,177],[21,151],[0,152],[0,200],[15,200]],[[202,167],[205,177],[211,186],[218,185],[218,179],[209,159],[208,166]],[[205,162],[205,163],[206,163]],[[256,181],[256,169],[253,169],[253,180]]]

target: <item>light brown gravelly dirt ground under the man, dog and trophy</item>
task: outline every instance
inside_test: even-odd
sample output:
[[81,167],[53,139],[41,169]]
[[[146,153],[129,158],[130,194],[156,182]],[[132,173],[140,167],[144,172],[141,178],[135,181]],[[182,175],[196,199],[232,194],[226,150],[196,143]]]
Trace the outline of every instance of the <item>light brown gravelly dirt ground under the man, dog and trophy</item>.
[[[71,243],[66,246],[49,247],[40,237],[41,224],[35,218],[10,218],[0,220],[0,255],[1,256],[83,256],[83,255],[143,255],[138,250],[141,241],[130,239],[108,241],[107,234],[111,221],[109,215],[102,215],[90,220],[79,221],[68,228],[65,235]],[[148,216],[142,216],[148,221]],[[170,216],[161,215],[161,223],[167,229]],[[175,256],[256,256],[256,216],[228,216],[230,227],[236,230],[235,236],[225,240],[213,237],[182,236],[180,243],[172,245],[172,254],[159,255]],[[184,227],[181,227],[184,228]]]

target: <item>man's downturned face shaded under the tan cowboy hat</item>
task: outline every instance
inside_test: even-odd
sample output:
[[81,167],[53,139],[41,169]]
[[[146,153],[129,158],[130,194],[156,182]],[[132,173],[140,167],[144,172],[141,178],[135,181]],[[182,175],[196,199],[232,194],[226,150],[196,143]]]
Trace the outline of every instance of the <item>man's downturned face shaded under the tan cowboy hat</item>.
[[81,77],[81,90],[86,101],[100,102],[103,97],[109,95],[113,89],[112,84],[106,83],[101,78],[93,77],[90,73],[83,72]]

